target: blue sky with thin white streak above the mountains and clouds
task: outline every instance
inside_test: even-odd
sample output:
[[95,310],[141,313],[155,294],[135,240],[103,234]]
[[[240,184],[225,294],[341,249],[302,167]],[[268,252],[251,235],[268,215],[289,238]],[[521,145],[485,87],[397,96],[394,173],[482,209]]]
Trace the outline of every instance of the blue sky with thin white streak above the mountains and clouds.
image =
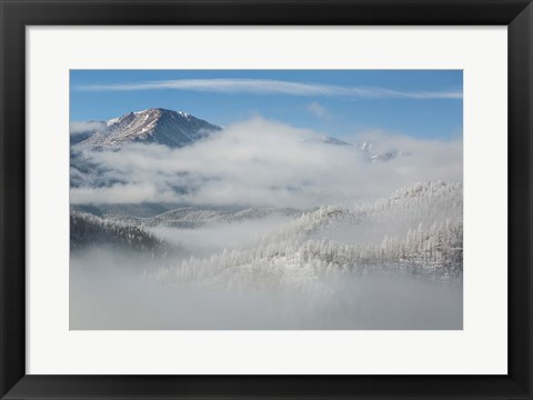
[[462,137],[461,70],[71,70],[70,120],[167,108],[229,126],[253,116],[338,138]]

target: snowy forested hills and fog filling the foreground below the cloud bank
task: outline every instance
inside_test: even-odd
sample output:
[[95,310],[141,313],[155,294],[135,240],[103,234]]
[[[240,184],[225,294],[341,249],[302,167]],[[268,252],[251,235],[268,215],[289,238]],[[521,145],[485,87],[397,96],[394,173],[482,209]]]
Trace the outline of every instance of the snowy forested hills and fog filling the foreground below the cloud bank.
[[462,328],[460,183],[302,212],[73,207],[71,237],[71,329]]

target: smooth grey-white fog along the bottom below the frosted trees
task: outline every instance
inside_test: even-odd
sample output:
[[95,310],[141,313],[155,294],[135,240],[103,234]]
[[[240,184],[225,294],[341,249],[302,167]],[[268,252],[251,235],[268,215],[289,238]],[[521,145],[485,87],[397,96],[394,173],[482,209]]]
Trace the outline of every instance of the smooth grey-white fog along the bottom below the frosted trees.
[[225,287],[147,278],[173,262],[105,248],[73,253],[70,329],[462,329],[461,281],[401,272],[280,276],[264,286],[243,273]]

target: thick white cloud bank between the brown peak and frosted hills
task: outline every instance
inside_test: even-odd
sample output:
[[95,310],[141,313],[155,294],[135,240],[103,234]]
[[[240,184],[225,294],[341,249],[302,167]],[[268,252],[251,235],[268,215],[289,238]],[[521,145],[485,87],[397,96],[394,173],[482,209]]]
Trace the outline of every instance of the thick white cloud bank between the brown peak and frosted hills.
[[383,132],[353,137],[356,142],[371,140],[373,151],[405,154],[370,162],[356,147],[305,141],[313,137],[319,133],[254,118],[182,149],[131,144],[87,152],[100,168],[92,176],[76,171],[84,178],[71,189],[71,202],[311,208],[350,206],[418,181],[462,181],[461,139],[431,141]]

